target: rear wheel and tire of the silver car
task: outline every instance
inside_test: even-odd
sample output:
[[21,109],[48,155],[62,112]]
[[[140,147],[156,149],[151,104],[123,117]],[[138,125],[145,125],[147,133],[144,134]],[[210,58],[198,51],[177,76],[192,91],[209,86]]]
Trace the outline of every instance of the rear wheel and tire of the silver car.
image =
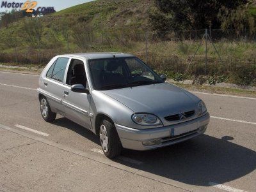
[[52,122],[56,118],[56,113],[52,112],[51,107],[45,96],[42,96],[40,98],[40,112],[44,121],[46,122]]

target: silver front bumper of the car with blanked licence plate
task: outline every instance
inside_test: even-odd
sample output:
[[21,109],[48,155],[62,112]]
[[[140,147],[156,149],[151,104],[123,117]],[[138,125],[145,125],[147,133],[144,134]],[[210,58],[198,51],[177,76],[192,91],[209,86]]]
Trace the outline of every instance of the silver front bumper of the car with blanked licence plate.
[[[145,151],[177,144],[190,138],[201,135],[207,129],[210,121],[209,113],[191,121],[152,129],[134,129],[116,124],[116,130],[126,149]],[[148,145],[148,142],[157,140],[157,144]]]

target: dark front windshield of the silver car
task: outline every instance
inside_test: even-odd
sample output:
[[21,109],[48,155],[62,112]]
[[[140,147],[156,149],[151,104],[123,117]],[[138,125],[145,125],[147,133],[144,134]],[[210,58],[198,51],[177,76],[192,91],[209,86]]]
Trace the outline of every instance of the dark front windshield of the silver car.
[[96,90],[120,89],[164,81],[137,57],[92,59],[89,61]]

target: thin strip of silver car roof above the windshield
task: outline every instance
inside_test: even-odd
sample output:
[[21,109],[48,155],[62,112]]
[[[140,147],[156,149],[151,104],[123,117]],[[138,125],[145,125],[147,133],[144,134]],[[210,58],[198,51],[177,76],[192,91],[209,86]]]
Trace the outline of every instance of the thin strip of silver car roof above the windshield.
[[116,52],[102,52],[102,53],[77,53],[77,54],[65,54],[58,55],[58,57],[83,57],[85,59],[106,59],[113,57],[134,57],[132,54],[116,53]]

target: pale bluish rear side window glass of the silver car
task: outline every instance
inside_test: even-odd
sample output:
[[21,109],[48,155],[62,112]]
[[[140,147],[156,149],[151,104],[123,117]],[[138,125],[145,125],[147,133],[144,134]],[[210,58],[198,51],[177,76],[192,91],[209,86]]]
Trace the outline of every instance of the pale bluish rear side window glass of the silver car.
[[[58,58],[55,64],[52,64],[53,70],[52,70],[52,75],[50,75],[50,78],[54,80],[58,80],[59,82],[63,82],[64,80],[64,75],[65,75],[65,70],[68,64],[69,58]],[[52,68],[51,66],[51,68]],[[51,68],[49,69],[48,73],[51,73]],[[48,77],[48,76],[47,76]]]

